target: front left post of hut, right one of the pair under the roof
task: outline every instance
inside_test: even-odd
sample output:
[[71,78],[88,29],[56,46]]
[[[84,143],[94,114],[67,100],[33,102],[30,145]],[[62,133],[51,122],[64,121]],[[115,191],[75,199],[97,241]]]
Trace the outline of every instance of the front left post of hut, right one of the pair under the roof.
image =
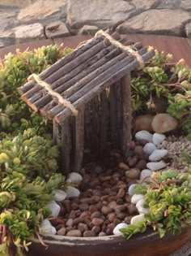
[[83,164],[84,151],[84,108],[80,109],[75,118],[75,153],[74,171],[79,172]]

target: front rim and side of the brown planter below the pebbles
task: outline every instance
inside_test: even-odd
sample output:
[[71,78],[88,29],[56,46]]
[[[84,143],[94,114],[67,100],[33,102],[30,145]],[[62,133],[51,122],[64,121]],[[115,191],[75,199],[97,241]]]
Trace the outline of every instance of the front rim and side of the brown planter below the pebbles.
[[154,232],[133,236],[128,241],[121,236],[102,237],[45,237],[48,249],[33,240],[28,256],[165,256],[180,249],[191,240],[191,228],[180,235],[170,234],[162,239]]

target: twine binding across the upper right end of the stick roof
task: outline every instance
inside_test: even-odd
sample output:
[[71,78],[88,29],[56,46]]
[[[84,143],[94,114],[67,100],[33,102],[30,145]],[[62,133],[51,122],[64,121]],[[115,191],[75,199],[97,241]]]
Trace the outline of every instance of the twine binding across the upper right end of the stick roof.
[[138,60],[138,63],[139,63],[139,65],[140,65],[140,67],[139,67],[140,69],[142,69],[142,68],[145,67],[145,63],[144,63],[144,61],[143,61],[143,59],[142,59],[142,56],[141,56],[140,54],[138,54],[138,51],[132,49],[130,46],[123,46],[120,41],[117,41],[117,40],[115,40],[114,38],[112,38],[108,33],[104,32],[104,30],[101,30],[101,29],[100,29],[100,30],[96,33],[95,37],[96,37],[96,36],[99,36],[99,35],[104,36],[105,38],[107,38],[108,41],[110,41],[110,43],[111,43],[113,46],[116,46],[116,47],[120,48],[121,50],[123,50],[123,51],[125,51],[125,52],[128,52],[128,53],[134,55],[134,57]]

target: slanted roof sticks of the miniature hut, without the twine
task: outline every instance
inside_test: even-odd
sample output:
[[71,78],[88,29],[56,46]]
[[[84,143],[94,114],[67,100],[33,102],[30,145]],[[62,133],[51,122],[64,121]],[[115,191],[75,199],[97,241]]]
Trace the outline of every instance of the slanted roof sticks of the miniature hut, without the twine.
[[[143,48],[141,43],[126,41],[118,33],[113,33],[112,37],[124,46],[130,45],[137,50],[144,62],[155,54],[154,50]],[[108,86],[120,80],[126,72],[133,71],[139,65],[136,57],[113,46],[100,35],[54,63],[40,74],[40,79],[79,110]],[[34,111],[55,119],[58,124],[72,115],[69,107],[59,103],[57,98],[51,96],[36,81],[29,81],[21,86],[19,93]]]

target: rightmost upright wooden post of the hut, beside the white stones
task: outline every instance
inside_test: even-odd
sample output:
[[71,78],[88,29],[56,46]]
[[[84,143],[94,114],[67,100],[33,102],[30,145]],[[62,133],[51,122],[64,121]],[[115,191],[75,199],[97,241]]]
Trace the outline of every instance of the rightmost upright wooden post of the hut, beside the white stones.
[[121,98],[123,111],[123,145],[122,150],[125,156],[129,154],[131,141],[131,90],[130,90],[130,73],[126,73],[121,79]]

